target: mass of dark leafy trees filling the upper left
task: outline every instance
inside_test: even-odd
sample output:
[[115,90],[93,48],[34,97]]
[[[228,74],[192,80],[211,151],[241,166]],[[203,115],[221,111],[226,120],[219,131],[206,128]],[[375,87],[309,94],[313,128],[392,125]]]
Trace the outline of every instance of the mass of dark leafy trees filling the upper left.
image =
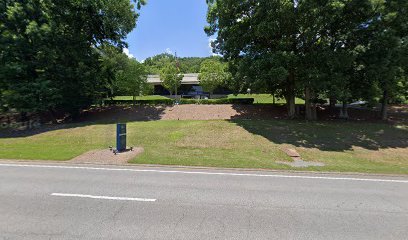
[[76,115],[112,91],[142,91],[122,84],[129,74],[144,72],[122,49],[144,3],[2,0],[0,110]]

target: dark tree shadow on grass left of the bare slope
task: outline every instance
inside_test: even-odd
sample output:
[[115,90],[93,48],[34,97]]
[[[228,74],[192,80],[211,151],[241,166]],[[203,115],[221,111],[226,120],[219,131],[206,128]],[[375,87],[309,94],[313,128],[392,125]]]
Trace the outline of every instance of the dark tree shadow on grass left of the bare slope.
[[[21,127],[22,129],[0,128],[0,139],[29,137],[61,129],[71,129],[95,124],[155,121],[162,118],[165,109],[165,106],[149,105],[91,108],[82,112],[79,118],[74,121],[60,124],[41,124],[34,121],[23,123]],[[16,126],[19,126],[18,123]]]

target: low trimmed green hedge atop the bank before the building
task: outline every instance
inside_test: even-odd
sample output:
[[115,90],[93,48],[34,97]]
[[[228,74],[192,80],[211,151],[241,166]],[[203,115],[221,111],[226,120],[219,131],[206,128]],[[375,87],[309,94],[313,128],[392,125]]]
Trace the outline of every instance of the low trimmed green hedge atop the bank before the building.
[[[105,100],[105,105],[173,105],[173,99],[152,99],[152,100]],[[245,104],[254,103],[253,98],[220,98],[220,99],[181,99],[180,104]]]

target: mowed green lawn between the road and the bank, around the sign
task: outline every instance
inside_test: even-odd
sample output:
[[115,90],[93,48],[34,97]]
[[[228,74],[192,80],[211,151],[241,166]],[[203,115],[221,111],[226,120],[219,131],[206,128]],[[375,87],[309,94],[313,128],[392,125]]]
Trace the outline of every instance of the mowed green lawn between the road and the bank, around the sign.
[[[69,160],[114,145],[115,125],[81,124],[25,137],[1,134],[0,159]],[[3,136],[2,136],[3,135]],[[325,167],[301,170],[408,174],[408,126],[351,122],[236,120],[128,123],[132,163],[296,169],[281,149],[294,148]],[[299,169],[296,169],[299,170]]]

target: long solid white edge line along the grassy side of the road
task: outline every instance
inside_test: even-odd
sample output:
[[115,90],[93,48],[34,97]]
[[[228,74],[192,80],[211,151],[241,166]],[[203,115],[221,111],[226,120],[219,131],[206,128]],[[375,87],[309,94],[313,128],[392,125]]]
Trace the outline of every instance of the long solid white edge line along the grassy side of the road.
[[319,177],[319,176],[304,176],[304,175],[230,173],[230,172],[196,172],[196,171],[189,172],[189,171],[155,170],[155,169],[102,168],[102,167],[56,166],[56,165],[37,165],[37,164],[30,165],[30,164],[7,164],[7,163],[4,163],[4,164],[0,163],[0,166],[1,167],[81,169],[81,170],[121,171],[121,172],[152,172],[152,173],[178,173],[178,174],[196,174],[196,175],[224,175],[224,176],[246,176],[246,177],[298,178],[298,179],[344,180],[344,181],[363,181],[363,182],[408,183],[408,180],[402,180],[402,179],[323,177],[323,176]]

